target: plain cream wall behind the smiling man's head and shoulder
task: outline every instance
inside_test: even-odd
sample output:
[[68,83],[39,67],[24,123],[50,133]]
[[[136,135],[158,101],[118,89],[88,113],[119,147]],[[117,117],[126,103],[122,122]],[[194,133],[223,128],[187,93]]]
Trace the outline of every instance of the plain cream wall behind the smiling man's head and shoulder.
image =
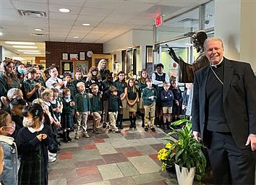
[[256,72],[256,1],[215,1],[214,32],[226,58],[246,61]]

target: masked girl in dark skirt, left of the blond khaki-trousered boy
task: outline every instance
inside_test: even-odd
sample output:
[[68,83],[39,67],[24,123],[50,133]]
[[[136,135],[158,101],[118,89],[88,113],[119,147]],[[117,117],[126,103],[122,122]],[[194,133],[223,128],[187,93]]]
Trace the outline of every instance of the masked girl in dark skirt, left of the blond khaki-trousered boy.
[[61,128],[63,129],[64,142],[72,141],[69,137],[69,132],[73,125],[72,109],[74,108],[74,101],[71,100],[70,96],[70,90],[68,88],[64,88],[62,91],[63,109],[61,112]]

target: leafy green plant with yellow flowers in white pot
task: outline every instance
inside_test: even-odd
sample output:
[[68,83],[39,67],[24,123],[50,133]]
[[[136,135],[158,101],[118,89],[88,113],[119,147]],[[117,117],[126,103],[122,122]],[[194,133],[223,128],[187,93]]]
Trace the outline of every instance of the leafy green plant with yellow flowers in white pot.
[[[182,129],[173,129],[167,134],[168,138],[163,138],[168,141],[168,144],[164,149],[158,152],[158,159],[162,161],[162,169],[168,165],[176,165],[176,174],[179,184],[192,184],[195,173],[196,178],[200,180],[202,174],[205,172],[206,159],[202,152],[202,144],[192,137],[191,121],[182,119],[172,124],[174,126],[184,124],[184,126],[182,126]],[[167,155],[166,160],[163,160],[165,159],[163,158],[164,155]],[[187,176],[180,177],[179,172],[181,172],[182,175],[186,173]],[[181,182],[180,180],[187,179],[187,177],[190,176],[189,173],[194,173],[194,175],[192,174],[190,182]]]

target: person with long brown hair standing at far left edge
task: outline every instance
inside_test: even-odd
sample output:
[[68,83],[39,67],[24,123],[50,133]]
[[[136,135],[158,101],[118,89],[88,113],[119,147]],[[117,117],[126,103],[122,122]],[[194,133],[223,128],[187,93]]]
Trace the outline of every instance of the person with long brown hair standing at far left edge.
[[8,90],[12,88],[20,89],[20,82],[14,74],[14,64],[12,61],[4,60],[1,64],[3,74],[0,76],[0,97],[6,96]]

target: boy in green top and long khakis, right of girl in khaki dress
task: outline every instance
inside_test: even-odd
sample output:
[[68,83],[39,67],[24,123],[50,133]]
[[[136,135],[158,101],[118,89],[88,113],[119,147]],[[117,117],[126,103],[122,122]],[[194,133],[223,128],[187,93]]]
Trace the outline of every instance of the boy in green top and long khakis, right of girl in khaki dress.
[[[152,79],[146,79],[147,87],[142,92],[142,99],[145,109],[145,132],[148,132],[148,127],[150,127],[152,132],[155,132],[154,121],[155,121],[155,102],[157,100],[157,92],[154,87],[152,87]],[[149,117],[150,113],[150,117]],[[150,122],[150,124],[149,124]]]

